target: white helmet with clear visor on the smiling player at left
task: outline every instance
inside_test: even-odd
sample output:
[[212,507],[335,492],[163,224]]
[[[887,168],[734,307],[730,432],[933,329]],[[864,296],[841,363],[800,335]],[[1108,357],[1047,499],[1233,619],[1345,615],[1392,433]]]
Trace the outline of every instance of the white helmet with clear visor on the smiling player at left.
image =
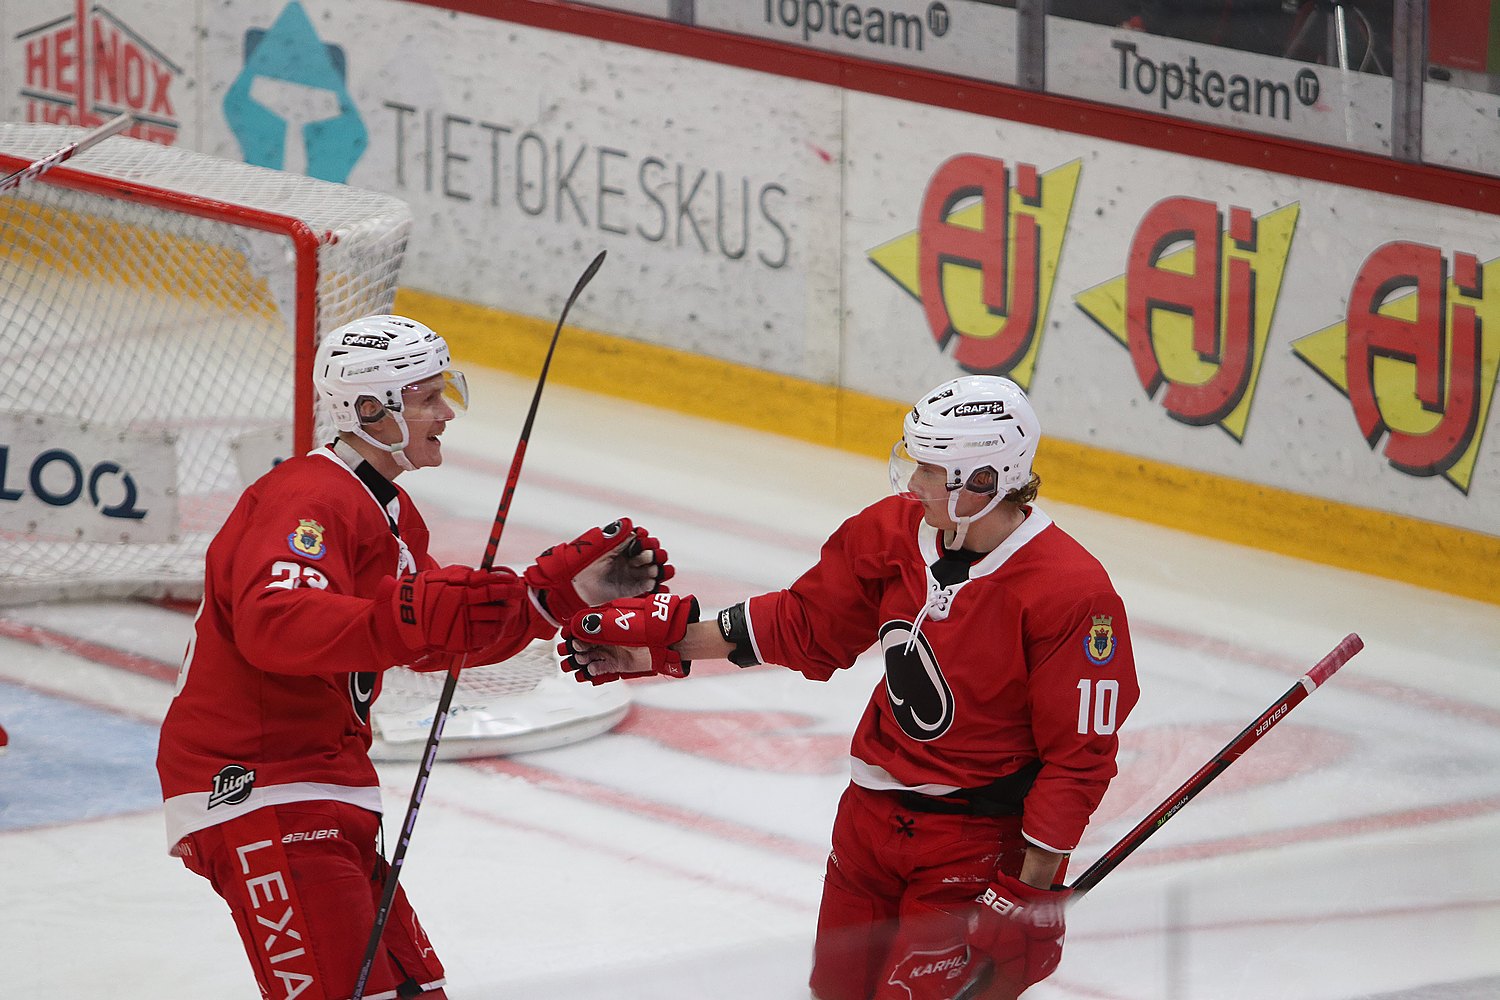
[[[410,438],[402,390],[442,376],[442,400],[460,414],[468,408],[468,384],[462,372],[450,366],[447,342],[430,328],[405,316],[363,316],[333,330],[318,345],[312,382],[328,408],[334,429],[351,432],[396,456],[408,468],[402,450]],[[374,400],[376,409],[360,412],[362,400]],[[369,408],[366,408],[369,409]],[[393,417],[400,429],[396,444],[376,441],[366,424]]]

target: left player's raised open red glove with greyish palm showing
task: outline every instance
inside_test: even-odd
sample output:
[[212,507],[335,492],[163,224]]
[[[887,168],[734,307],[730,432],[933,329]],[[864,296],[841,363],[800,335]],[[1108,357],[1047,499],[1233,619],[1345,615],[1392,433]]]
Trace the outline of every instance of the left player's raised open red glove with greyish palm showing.
[[537,610],[561,625],[588,607],[663,591],[674,573],[662,543],[621,517],[552,546],[526,568],[525,580]]

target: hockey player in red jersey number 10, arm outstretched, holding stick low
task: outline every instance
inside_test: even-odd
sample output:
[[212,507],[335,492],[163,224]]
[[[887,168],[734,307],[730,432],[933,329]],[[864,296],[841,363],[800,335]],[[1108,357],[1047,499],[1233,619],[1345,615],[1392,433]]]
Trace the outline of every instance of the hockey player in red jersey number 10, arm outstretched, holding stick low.
[[813,955],[818,1000],[946,1000],[988,958],[1016,997],[1062,955],[1068,853],[1114,777],[1138,690],[1104,568],[1035,505],[1040,426],[1011,381],[927,393],[888,496],[790,588],[698,621],[656,594],[564,625],[594,682],[693,660],[818,681],[878,645],[884,682],[850,745]]

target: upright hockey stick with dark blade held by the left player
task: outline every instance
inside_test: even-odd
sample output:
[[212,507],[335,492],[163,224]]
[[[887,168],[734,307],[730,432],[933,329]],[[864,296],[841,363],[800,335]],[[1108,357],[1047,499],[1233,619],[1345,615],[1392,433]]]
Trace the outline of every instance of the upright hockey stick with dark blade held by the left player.
[[[542,405],[542,390],[548,384],[548,369],[552,367],[552,354],[556,351],[558,337],[562,334],[562,324],[567,321],[567,313],[573,307],[573,303],[584,292],[584,286],[594,279],[603,262],[604,250],[600,250],[598,256],[584,268],[567,301],[562,303],[562,315],[558,316],[556,330],[552,331],[552,342],[548,345],[546,360],[542,361],[542,375],[537,376],[537,390],[531,394],[531,409],[526,411],[526,421],[520,426],[520,441],[516,442],[516,454],[510,459],[506,490],[500,495],[500,508],[495,511],[495,526],[490,528],[489,543],[484,546],[484,558],[480,561],[480,568],[483,570],[495,565],[500,532],[506,529],[506,520],[510,517],[510,498],[516,493],[516,480],[520,478],[520,462],[526,457],[526,444],[531,441],[531,424],[537,420],[537,406]],[[369,981],[370,967],[374,967],[375,955],[380,951],[380,940],[386,933],[386,921],[390,919],[390,907],[396,900],[396,883],[400,880],[400,865],[405,862],[406,847],[411,844],[411,828],[417,823],[417,810],[422,808],[422,793],[428,787],[428,777],[432,775],[432,765],[438,759],[438,742],[442,739],[442,727],[448,721],[448,706],[453,703],[453,691],[459,684],[459,670],[460,667],[448,670],[448,676],[442,682],[442,694],[438,697],[438,708],[432,717],[432,732],[428,735],[428,747],[423,750],[422,762],[417,765],[417,781],[411,789],[411,801],[406,804],[406,819],[400,825],[400,838],[396,841],[396,850],[390,856],[390,871],[386,873],[386,886],[381,892],[380,909],[375,912],[375,927],[370,928],[369,942],[364,945],[364,961],[360,964],[358,979],[354,981],[351,1000],[363,1000],[364,997],[364,984]]]

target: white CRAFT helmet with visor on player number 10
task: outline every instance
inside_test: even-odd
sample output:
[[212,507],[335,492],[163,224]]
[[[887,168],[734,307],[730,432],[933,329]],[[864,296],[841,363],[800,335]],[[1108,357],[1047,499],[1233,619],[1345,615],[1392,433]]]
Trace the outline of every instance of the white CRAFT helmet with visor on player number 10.
[[[946,474],[948,516],[958,525],[956,546],[969,523],[988,514],[1005,496],[1030,481],[1041,423],[1022,387],[999,375],[964,375],[926,393],[902,423],[891,448],[891,489],[912,496],[908,483],[918,465]],[[990,501],[958,517],[960,490]]]

